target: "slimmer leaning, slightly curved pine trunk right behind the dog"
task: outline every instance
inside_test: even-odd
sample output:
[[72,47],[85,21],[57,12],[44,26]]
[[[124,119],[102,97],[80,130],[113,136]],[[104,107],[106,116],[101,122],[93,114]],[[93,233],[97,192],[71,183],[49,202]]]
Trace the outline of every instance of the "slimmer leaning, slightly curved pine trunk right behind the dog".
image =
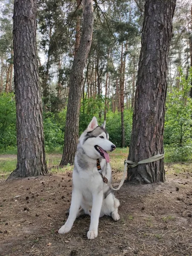
[[83,70],[90,51],[93,33],[93,0],[83,0],[82,35],[70,74],[70,90],[64,136],[64,151],[60,165],[73,164],[79,138],[79,111]]

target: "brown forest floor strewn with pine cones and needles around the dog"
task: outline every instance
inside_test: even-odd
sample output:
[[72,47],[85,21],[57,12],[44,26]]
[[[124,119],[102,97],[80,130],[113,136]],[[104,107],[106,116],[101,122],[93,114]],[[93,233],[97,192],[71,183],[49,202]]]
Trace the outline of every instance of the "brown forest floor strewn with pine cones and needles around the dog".
[[[122,177],[126,150],[111,154],[113,185]],[[59,169],[61,154],[47,156],[50,174],[7,181],[16,155],[0,155],[0,256],[192,256],[192,163],[167,163],[166,182],[125,184],[115,192],[120,220],[99,220],[88,240],[90,217],[67,219],[72,166]]]

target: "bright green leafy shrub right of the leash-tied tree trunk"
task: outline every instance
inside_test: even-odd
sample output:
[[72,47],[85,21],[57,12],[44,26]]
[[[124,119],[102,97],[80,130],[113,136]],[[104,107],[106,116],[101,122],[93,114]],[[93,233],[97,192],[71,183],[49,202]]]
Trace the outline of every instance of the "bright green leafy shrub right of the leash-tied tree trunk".
[[164,143],[171,146],[172,153],[169,158],[173,161],[186,161],[192,157],[192,99],[188,96],[192,70],[189,71],[187,79],[181,70],[180,74],[180,85],[183,89],[173,89],[166,102]]

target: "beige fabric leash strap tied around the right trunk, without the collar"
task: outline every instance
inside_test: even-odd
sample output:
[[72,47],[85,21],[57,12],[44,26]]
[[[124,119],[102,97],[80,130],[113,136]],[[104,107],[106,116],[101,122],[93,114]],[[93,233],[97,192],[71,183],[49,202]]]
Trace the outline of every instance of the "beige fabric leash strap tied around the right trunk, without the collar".
[[145,160],[141,160],[138,163],[135,163],[135,162],[132,162],[132,161],[129,161],[129,160],[125,160],[125,162],[124,162],[124,164],[125,164],[124,172],[123,172],[123,176],[122,176],[122,179],[121,179],[121,182],[120,182],[118,188],[114,189],[111,184],[109,185],[110,188],[113,189],[113,190],[119,190],[120,189],[120,187],[122,186],[122,184],[124,183],[124,180],[125,180],[125,175],[126,175],[126,172],[127,172],[127,164],[128,163],[132,163],[132,165],[128,166],[128,168],[133,168],[133,167],[135,167],[135,166],[137,166],[139,164],[142,164],[142,163],[152,163],[154,161],[162,159],[163,157],[164,157],[164,154],[157,154],[157,155],[155,155],[153,157],[149,157],[149,158],[147,158]]

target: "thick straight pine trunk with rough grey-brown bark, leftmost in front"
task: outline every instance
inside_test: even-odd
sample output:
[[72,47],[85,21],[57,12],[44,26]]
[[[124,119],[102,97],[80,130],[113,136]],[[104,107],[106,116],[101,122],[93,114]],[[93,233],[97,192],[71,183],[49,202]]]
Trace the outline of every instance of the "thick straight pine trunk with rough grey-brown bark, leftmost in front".
[[17,168],[9,179],[46,175],[41,91],[36,55],[36,0],[15,0],[13,42]]

